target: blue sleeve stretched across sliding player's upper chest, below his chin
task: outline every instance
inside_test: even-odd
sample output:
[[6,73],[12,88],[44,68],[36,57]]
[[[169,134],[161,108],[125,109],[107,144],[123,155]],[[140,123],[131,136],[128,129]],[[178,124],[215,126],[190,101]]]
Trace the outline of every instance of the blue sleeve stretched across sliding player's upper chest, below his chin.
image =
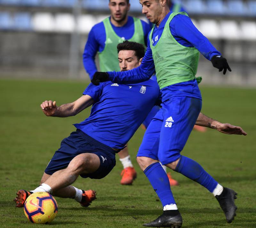
[[148,48],[139,67],[127,71],[108,72],[110,81],[120,84],[138,83],[148,80],[155,72],[152,50],[148,40]]

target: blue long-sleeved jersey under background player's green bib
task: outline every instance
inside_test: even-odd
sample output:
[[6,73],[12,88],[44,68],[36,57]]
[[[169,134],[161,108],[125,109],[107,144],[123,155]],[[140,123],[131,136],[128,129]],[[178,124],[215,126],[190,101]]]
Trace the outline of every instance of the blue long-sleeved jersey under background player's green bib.
[[[142,20],[141,20],[141,24],[142,24],[143,32],[145,35],[144,37],[145,44],[147,44],[148,33],[151,30],[151,26]],[[111,23],[111,26],[118,36],[124,37],[124,40],[131,39],[134,34],[134,21],[133,21],[133,18],[130,16],[128,17],[127,23],[124,26],[116,27],[112,23]],[[90,78],[92,78],[93,74],[97,71],[97,67],[94,62],[95,55],[97,54],[98,51],[101,52],[104,50],[105,41],[106,41],[105,27],[103,22],[100,22],[92,27],[88,35],[88,40],[84,47],[83,63],[84,63],[84,68],[89,74]]]

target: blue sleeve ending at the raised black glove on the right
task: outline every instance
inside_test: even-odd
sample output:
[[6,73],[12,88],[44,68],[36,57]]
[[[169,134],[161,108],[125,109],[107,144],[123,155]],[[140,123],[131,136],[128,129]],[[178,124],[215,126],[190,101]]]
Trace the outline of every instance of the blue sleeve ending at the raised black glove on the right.
[[170,22],[170,31],[173,37],[181,37],[192,44],[204,57],[211,60],[213,55],[221,55],[211,42],[198,31],[191,19],[178,14]]

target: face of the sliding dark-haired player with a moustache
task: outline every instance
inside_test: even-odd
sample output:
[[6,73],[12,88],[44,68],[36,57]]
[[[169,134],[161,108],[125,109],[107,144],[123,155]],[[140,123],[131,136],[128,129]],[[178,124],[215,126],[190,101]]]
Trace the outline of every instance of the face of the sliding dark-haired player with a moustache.
[[142,58],[138,60],[135,55],[135,51],[132,50],[122,50],[118,53],[118,61],[120,71],[132,70],[138,66],[142,61]]

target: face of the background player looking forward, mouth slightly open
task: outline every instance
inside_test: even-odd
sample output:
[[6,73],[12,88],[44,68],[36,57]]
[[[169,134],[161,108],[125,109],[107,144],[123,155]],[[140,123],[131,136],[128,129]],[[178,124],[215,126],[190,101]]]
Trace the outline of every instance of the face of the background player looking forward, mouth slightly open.
[[130,4],[127,4],[126,0],[110,0],[108,7],[111,12],[111,18],[117,22],[123,21],[130,10]]

